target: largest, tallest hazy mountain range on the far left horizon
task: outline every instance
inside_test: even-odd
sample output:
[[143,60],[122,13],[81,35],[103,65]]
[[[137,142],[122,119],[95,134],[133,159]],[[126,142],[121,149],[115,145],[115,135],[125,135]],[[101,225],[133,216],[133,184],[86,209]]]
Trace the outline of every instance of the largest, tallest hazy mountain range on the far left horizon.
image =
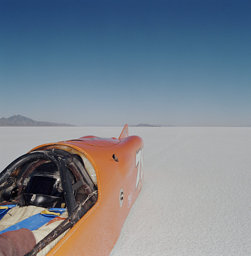
[[58,124],[57,122],[34,121],[25,116],[15,115],[10,118],[0,118],[0,126],[72,126],[72,124]]

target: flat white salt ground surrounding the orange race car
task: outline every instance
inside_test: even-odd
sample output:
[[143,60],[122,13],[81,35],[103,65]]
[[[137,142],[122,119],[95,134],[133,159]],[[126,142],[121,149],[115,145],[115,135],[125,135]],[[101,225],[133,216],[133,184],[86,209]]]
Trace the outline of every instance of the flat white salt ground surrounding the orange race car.
[[[37,145],[122,127],[0,127],[0,170]],[[111,256],[251,255],[251,127],[129,127],[144,186]]]

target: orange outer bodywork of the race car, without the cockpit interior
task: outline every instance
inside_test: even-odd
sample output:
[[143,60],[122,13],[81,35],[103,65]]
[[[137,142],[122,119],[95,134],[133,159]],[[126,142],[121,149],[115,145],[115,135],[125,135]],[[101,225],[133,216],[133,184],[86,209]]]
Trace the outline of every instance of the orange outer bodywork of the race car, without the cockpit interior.
[[143,140],[128,136],[125,125],[118,139],[86,136],[31,151],[51,147],[82,152],[96,171],[99,194],[96,204],[48,255],[109,255],[143,185]]

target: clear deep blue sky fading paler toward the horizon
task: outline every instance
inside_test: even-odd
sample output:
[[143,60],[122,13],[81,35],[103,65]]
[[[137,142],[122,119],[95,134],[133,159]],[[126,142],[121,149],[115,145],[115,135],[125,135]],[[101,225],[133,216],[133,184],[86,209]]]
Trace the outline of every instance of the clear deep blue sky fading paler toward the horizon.
[[251,125],[250,13],[250,0],[2,0],[0,118]]

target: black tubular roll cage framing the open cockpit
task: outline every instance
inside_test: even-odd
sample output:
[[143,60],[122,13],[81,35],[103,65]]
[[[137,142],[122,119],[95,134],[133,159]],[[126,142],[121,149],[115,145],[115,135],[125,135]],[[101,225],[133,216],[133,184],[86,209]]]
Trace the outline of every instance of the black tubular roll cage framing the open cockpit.
[[[23,175],[30,171],[29,169],[32,168],[32,164],[34,165],[36,162],[39,164],[39,160],[43,160],[43,162],[47,160],[53,162],[53,164],[56,165],[56,168],[58,168],[69,217],[67,217],[67,219],[64,220],[58,227],[56,227],[53,232],[43,238],[31,250],[31,252],[26,255],[36,255],[37,252],[43,249],[43,247],[51,243],[51,241],[64,233],[68,228],[75,225],[78,220],[80,220],[80,218],[83,217],[84,214],[88,211],[86,207],[83,207],[87,200],[91,200],[94,203],[97,201],[97,187],[84,168],[80,157],[75,154],[70,154],[69,152],[62,149],[33,151],[18,157],[11,164],[9,164],[2,171],[2,173],[0,173],[0,192],[10,186],[13,186],[13,184],[15,184],[15,186],[21,186],[21,190],[23,190],[23,186],[21,185],[20,180],[23,180]],[[35,165],[37,166],[38,164]],[[36,167],[33,166],[33,170],[34,168]],[[73,185],[71,184],[70,177],[68,175],[69,169],[73,172],[73,175],[77,176],[78,178],[77,183]],[[17,173],[17,176],[12,176],[15,171],[20,172]],[[73,190],[80,186],[83,186],[88,197],[85,201],[77,204]]]

